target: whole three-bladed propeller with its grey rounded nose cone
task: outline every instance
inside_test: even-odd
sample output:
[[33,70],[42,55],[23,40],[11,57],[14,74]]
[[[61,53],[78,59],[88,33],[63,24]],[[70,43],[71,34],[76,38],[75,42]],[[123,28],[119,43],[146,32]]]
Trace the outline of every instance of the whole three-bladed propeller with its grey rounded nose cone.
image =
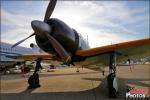
[[13,47],[19,45],[20,43],[24,42],[25,40],[27,40],[28,38],[32,37],[33,35],[38,35],[41,38],[44,38],[45,36],[48,38],[49,42],[52,44],[52,46],[54,47],[55,51],[62,57],[62,59],[64,60],[65,63],[69,64],[71,61],[71,57],[68,54],[68,52],[62,47],[62,45],[54,38],[50,35],[52,28],[50,25],[48,25],[46,22],[49,19],[49,17],[52,15],[53,10],[55,8],[57,0],[51,0],[46,13],[45,13],[45,17],[44,17],[44,22],[42,21],[38,21],[38,20],[34,20],[31,22],[31,26],[34,30],[34,33],[31,34],[30,36],[28,36],[27,38],[15,43]]

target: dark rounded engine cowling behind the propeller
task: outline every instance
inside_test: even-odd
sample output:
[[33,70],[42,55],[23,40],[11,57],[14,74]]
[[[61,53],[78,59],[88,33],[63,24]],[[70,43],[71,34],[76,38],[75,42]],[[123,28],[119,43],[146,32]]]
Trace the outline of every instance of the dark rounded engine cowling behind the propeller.
[[[67,24],[59,19],[51,18],[47,23],[52,27],[52,32],[49,35],[53,36],[64,49],[74,54],[78,47],[78,34],[75,30],[70,28]],[[56,54],[55,49],[49,42],[47,37],[41,38],[38,35],[35,36],[37,45],[45,52]]]

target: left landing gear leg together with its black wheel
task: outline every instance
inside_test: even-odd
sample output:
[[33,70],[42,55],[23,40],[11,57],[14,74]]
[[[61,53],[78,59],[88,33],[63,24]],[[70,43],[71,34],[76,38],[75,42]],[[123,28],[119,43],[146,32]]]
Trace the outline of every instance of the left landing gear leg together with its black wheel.
[[34,73],[28,79],[29,88],[40,87],[39,74],[38,74],[38,71],[39,71],[40,68],[42,68],[41,67],[41,59],[38,58],[36,60],[36,67],[35,67]]

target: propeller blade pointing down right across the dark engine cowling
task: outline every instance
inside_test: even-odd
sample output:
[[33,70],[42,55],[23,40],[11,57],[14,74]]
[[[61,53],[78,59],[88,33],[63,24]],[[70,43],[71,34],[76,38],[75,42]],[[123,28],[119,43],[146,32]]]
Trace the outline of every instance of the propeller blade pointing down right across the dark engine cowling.
[[56,50],[56,52],[62,57],[62,59],[65,61],[65,63],[70,63],[71,57],[67,53],[67,51],[61,46],[59,42],[55,38],[53,38],[51,35],[46,33],[46,36],[48,37],[50,43]]

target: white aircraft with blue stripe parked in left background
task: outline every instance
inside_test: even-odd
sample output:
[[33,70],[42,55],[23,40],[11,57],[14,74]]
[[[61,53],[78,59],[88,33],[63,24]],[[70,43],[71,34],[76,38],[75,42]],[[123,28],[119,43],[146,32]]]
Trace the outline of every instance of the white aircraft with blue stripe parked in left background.
[[26,59],[16,59],[15,57],[19,57],[22,55],[28,54],[43,54],[45,53],[41,50],[37,45],[31,43],[31,48],[26,48],[22,46],[16,46],[15,48],[11,48],[12,44],[6,42],[0,42],[0,67],[10,66],[12,67],[14,64],[19,62],[24,62]]

